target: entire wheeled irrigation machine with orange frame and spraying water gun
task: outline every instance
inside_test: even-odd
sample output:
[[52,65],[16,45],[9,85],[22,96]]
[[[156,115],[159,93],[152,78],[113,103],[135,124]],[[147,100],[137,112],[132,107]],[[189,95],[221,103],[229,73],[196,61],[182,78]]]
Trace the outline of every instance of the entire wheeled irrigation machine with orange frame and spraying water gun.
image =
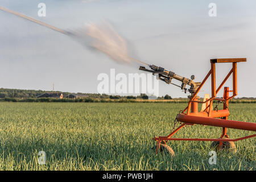
[[[164,137],[154,137],[153,140],[156,141],[156,154],[160,150],[168,151],[171,155],[175,155],[174,151],[170,146],[167,146],[167,142],[169,140],[188,140],[188,141],[212,141],[212,148],[216,150],[220,149],[232,149],[236,151],[236,145],[234,142],[238,140],[243,140],[247,138],[256,137],[256,134],[248,135],[246,137],[241,137],[237,139],[230,139],[227,134],[227,129],[238,129],[238,130],[248,130],[248,131],[256,131],[256,123],[253,122],[242,122],[242,121],[232,121],[228,119],[230,114],[229,112],[229,101],[237,96],[237,63],[238,62],[246,62],[246,58],[229,58],[229,59],[211,59],[210,60],[210,71],[207,76],[204,78],[202,82],[194,82],[193,79],[195,76],[191,76],[191,79],[181,77],[176,75],[174,72],[166,71],[166,69],[161,67],[156,67],[155,65],[149,65],[151,69],[146,69],[145,67],[140,67],[139,69],[142,71],[151,72],[153,74],[158,74],[159,79],[165,81],[167,84],[172,84],[172,78],[179,80],[182,82],[180,88],[187,90],[185,88],[186,85],[189,85],[188,89],[189,93],[191,93],[191,97],[188,101],[188,106],[185,107],[184,110],[181,110],[179,114],[177,114],[174,120],[174,127],[172,129],[171,134]],[[216,89],[216,64],[220,63],[232,63],[232,69],[226,75],[224,80]],[[216,95],[224,86],[226,80],[233,75],[233,90],[230,90],[229,87],[224,87],[223,98],[217,98]],[[197,93],[199,93],[200,89],[203,87],[205,81],[210,78],[212,96],[206,94],[204,100],[199,100]],[[175,84],[174,84],[175,85]],[[176,85],[179,86],[179,85]],[[233,95],[229,96],[229,93],[232,92]],[[208,96],[208,97],[207,97]],[[216,106],[213,109],[213,101],[216,101]],[[223,103],[223,109],[218,109],[218,105],[220,102]],[[198,110],[198,104],[202,104],[202,108]],[[180,123],[180,126],[176,127],[176,124]],[[216,126],[222,127],[222,134],[220,138],[174,138],[173,136],[179,131],[181,128],[185,126],[193,126],[193,125],[207,125],[207,126]]]

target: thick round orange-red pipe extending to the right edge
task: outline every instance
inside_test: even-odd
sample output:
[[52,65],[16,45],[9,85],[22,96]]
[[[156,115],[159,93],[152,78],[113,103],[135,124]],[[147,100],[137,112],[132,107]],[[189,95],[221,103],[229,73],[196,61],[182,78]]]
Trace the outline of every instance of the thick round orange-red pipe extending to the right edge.
[[193,115],[178,114],[177,120],[180,122],[193,123],[199,125],[228,127],[230,129],[240,129],[256,131],[256,123],[233,121],[228,119],[218,119],[209,117],[198,117]]

